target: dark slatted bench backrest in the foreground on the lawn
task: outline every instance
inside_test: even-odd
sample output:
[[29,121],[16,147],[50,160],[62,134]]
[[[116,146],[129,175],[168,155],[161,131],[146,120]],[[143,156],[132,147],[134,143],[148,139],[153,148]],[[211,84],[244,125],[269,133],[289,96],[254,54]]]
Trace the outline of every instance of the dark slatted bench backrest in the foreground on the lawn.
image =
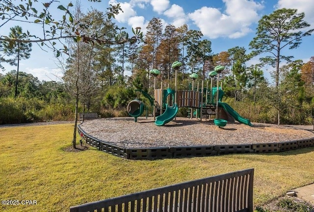
[[253,212],[254,169],[86,203],[70,212]]

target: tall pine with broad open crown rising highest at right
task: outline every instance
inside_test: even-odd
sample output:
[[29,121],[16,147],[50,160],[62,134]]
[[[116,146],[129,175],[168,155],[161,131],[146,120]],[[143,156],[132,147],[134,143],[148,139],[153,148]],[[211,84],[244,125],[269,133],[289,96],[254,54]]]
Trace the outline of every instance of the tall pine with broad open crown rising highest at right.
[[[260,60],[276,68],[275,84],[279,83],[279,64],[282,60],[288,62],[293,56],[282,55],[282,49],[297,48],[305,36],[310,36],[314,29],[308,29],[310,24],[304,21],[304,13],[296,9],[282,8],[270,15],[265,15],[259,21],[256,37],[250,42],[253,49],[251,56],[265,53],[267,56]],[[305,30],[305,31],[304,31]]]

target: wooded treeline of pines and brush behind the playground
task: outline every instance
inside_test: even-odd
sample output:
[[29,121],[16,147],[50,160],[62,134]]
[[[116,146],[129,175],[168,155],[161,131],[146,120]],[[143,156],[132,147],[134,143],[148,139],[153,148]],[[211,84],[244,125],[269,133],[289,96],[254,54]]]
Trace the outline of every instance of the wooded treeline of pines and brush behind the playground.
[[[264,64],[246,65],[256,56],[247,53],[248,49],[235,46],[213,52],[211,41],[187,25],[164,26],[159,18],[153,18],[144,42],[119,42],[116,35],[123,39],[123,28],[118,28],[103,12],[92,10],[83,14],[77,7],[73,18],[89,26],[82,28],[80,35],[98,34],[102,39],[118,42],[104,45],[68,39],[69,59],[60,62],[64,75],[59,82],[40,82],[25,72],[19,72],[17,78],[15,70],[0,74],[0,124],[73,120],[76,107],[78,112],[97,112],[102,117],[128,116],[126,106],[135,97],[142,97],[149,105],[134,90],[153,95],[150,70],[161,73],[157,76],[158,88],[160,82],[174,88],[174,61],[183,63],[177,77],[179,90],[189,88],[191,73],[200,76],[196,83],[205,80],[210,84],[209,71],[217,65],[225,66],[221,74],[223,101],[251,122],[278,123],[278,118],[281,124],[313,122],[314,56],[310,61],[287,57],[288,62],[280,66],[278,74],[274,68],[272,79],[278,79],[277,85],[264,78]],[[3,44],[1,63],[17,60],[14,55],[5,55],[7,47]],[[186,109],[181,109],[179,115],[186,116]]]

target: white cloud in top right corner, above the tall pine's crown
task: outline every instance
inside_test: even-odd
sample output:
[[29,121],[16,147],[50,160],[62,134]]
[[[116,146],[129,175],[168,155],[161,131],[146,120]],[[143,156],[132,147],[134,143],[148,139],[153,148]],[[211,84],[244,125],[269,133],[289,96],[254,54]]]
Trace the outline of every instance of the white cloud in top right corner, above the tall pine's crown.
[[278,8],[297,9],[305,13],[305,21],[314,27],[314,0],[278,0]]

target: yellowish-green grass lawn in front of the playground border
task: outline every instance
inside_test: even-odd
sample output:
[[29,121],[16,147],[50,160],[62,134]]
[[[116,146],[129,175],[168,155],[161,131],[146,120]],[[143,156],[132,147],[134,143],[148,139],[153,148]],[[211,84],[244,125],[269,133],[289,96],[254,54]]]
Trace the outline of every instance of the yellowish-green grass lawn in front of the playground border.
[[[0,128],[0,197],[8,212],[68,212],[70,206],[216,174],[255,168],[254,206],[314,183],[314,147],[276,154],[125,160],[90,148],[67,152],[73,124]],[[210,136],[209,136],[210,139]],[[21,205],[36,200],[36,205]]]

